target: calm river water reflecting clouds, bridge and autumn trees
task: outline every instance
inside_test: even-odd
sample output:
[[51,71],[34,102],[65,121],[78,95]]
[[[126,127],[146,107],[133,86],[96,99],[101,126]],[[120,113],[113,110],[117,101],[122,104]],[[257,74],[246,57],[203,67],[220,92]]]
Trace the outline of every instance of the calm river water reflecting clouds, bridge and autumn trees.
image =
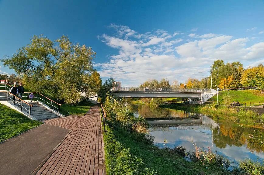
[[237,117],[188,113],[168,108],[151,108],[147,105],[128,104],[136,116],[142,116],[152,125],[149,133],[154,144],[164,147],[184,146],[194,150],[193,144],[227,157],[237,164],[250,158],[263,163],[264,132],[259,121]]

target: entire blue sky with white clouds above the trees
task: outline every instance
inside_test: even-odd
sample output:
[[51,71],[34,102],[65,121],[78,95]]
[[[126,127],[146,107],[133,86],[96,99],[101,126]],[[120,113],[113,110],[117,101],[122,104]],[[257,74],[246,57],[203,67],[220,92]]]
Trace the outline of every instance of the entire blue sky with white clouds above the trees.
[[[163,77],[184,82],[209,73],[216,59],[264,63],[264,1],[7,1],[0,0],[0,58],[33,35],[68,35],[91,46],[95,66],[122,85]],[[0,73],[13,73],[0,63]],[[174,73],[174,75],[168,75]]]

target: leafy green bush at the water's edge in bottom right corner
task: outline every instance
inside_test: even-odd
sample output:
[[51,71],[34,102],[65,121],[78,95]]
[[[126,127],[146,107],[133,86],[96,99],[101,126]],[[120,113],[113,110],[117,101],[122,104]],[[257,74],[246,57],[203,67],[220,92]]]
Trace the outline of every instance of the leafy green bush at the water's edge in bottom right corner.
[[245,160],[239,163],[239,168],[243,173],[250,175],[263,175],[264,167],[258,162],[252,162],[251,160]]

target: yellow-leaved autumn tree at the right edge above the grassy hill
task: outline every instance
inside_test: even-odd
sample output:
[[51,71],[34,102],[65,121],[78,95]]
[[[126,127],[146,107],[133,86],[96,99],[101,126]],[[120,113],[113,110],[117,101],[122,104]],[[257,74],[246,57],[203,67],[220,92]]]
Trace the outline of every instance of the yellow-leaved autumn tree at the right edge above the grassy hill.
[[241,84],[245,87],[258,87],[264,93],[264,67],[259,64],[257,67],[248,68],[241,77]]

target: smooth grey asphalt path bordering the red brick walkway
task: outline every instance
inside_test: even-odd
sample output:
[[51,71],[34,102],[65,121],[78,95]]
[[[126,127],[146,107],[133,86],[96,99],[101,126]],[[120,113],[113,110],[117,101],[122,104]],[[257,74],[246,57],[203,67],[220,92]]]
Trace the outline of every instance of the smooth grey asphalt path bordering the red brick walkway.
[[71,130],[44,123],[0,143],[0,175],[29,175]]

